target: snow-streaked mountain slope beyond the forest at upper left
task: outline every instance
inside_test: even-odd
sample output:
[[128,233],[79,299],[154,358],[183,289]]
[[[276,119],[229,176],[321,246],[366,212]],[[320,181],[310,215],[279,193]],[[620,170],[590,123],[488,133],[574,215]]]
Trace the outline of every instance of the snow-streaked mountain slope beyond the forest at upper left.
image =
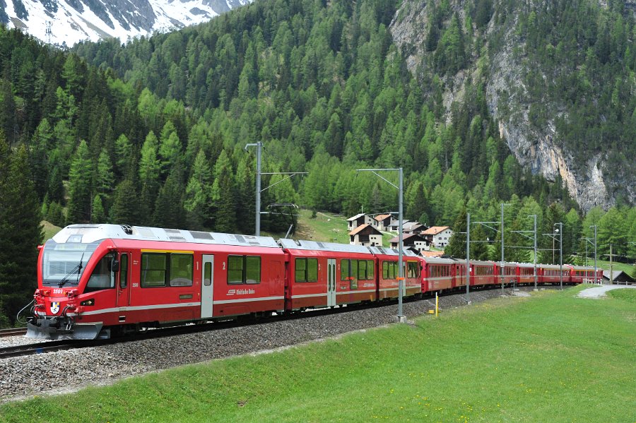
[[251,0],[0,0],[0,23],[51,44],[166,32]]

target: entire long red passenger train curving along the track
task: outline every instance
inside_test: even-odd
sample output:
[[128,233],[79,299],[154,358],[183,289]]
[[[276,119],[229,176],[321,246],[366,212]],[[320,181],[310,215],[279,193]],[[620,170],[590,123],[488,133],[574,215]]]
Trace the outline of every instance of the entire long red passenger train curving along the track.
[[[109,338],[140,328],[388,301],[398,252],[313,241],[126,225],[71,225],[40,247],[28,336]],[[504,282],[534,266],[504,263]],[[501,282],[499,263],[471,261],[471,286]],[[556,266],[558,272],[558,266]],[[558,283],[537,266],[538,283]],[[594,270],[563,266],[564,283]],[[599,275],[601,272],[599,271]],[[462,289],[466,261],[404,252],[404,296]]]

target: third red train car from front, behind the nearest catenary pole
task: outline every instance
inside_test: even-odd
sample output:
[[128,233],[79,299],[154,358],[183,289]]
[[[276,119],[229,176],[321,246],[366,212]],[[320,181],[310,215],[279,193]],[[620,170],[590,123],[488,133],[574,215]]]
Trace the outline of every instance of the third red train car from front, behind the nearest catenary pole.
[[[398,251],[381,246],[370,246],[368,249],[377,260],[377,298],[397,298],[399,294]],[[405,278],[403,296],[420,294],[422,292],[422,259],[412,251],[405,250],[402,260]]]

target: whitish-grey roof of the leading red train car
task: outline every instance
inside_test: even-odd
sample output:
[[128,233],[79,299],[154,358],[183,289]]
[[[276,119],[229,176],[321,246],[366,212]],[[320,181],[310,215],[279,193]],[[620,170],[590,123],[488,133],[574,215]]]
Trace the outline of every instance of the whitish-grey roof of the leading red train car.
[[192,242],[232,246],[262,246],[279,248],[272,237],[222,234],[188,230],[163,229],[158,227],[126,225],[69,225],[55,234],[53,241],[88,244],[102,239],[130,239],[139,241]]

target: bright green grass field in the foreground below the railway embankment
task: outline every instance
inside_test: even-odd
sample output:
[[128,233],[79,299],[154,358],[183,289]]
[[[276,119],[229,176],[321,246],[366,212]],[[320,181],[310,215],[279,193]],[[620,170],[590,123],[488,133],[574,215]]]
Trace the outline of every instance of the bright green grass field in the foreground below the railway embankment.
[[634,297],[577,290],[10,403],[0,422],[635,422]]

